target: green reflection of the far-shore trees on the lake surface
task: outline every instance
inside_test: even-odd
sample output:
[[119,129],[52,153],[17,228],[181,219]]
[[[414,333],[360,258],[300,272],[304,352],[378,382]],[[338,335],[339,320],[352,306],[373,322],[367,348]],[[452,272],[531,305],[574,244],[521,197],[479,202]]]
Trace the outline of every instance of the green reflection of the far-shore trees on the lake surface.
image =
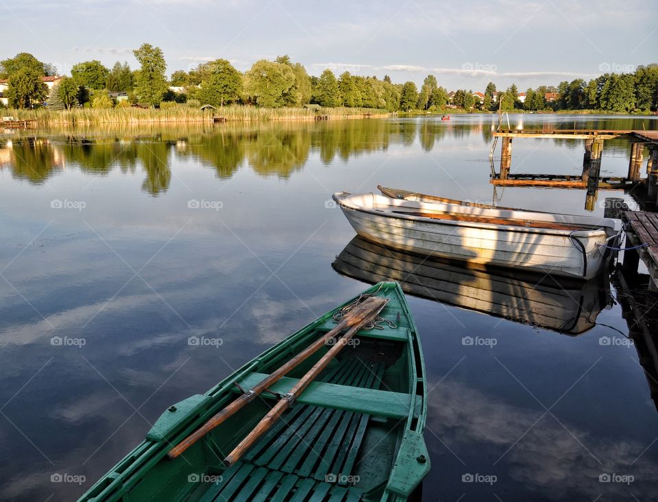
[[[523,121],[523,117],[518,120]],[[531,120],[539,121],[539,125]],[[425,152],[431,152],[448,139],[481,136],[482,158],[485,159],[497,124],[498,117],[491,115],[459,117],[450,123],[428,117],[389,121],[229,123],[216,127],[140,126],[132,130],[130,127],[89,131],[60,129],[47,131],[43,136],[29,136],[34,131],[22,131],[11,140],[0,138],[0,167],[10,168],[18,179],[42,184],[67,164],[69,168],[79,168],[93,175],[107,175],[116,168],[123,173],[133,173],[139,166],[146,175],[143,191],[157,196],[169,188],[172,153],[180,160],[193,160],[214,168],[221,179],[229,179],[243,165],[250,166],[262,177],[289,179],[304,168],[311,153],[317,153],[324,164],[332,163],[337,157],[347,162],[350,157],[362,153],[387,151],[391,145],[411,147],[416,140]],[[629,118],[578,118],[574,125],[605,129],[658,126],[656,121],[629,121]],[[540,129],[572,128],[574,125],[551,116],[533,116],[524,123],[525,127]],[[582,148],[578,141],[550,141],[558,148]],[[627,140],[609,140],[605,146],[608,154],[628,154]]]

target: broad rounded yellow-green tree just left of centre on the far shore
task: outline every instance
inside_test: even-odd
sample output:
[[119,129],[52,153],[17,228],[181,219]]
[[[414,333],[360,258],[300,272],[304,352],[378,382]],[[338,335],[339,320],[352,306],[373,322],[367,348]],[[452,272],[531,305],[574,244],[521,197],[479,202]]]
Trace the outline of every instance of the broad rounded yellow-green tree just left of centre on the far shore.
[[295,73],[287,64],[259,60],[245,73],[245,94],[268,108],[282,106],[284,92],[293,84]]

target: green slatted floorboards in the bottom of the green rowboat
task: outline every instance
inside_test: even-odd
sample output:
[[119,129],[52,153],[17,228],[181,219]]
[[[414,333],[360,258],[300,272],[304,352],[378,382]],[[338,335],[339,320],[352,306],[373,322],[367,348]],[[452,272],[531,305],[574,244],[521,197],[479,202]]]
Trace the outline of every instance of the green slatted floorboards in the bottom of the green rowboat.
[[[346,357],[328,368],[331,384],[376,390],[383,362]],[[402,394],[406,395],[406,394]],[[350,486],[369,414],[297,403],[221,475],[203,502],[356,502],[363,492]]]

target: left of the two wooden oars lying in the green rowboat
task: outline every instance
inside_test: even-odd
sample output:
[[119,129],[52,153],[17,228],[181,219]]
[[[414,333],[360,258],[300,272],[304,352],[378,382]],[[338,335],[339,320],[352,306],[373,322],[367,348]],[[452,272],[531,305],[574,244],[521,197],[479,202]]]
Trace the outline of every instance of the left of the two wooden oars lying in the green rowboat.
[[[348,312],[348,314],[345,314],[345,316],[343,316],[343,318],[338,323],[338,325],[334,327],[331,331],[328,331],[325,336],[319,338],[318,340],[313,342],[313,344],[310,344],[310,346],[308,346],[302,352],[295,355],[295,357],[293,357],[286,364],[278,368],[278,370],[274,371],[269,376],[267,376],[262,381],[260,381],[258,384],[256,384],[256,386],[254,386],[254,388],[249,390],[249,392],[247,392],[246,394],[242,394],[238,399],[236,399],[235,401],[224,407],[217,414],[213,415],[206,423],[204,423],[204,425],[202,425],[202,427],[194,431],[192,434],[190,434],[184,440],[178,443],[175,447],[173,447],[169,451],[169,453],[167,453],[167,456],[170,459],[178,457],[186,449],[188,449],[193,444],[195,444],[195,442],[197,442],[200,438],[208,434],[209,431],[215,429],[217,425],[220,425],[221,423],[226,421],[227,418],[235,414],[237,411],[241,410],[245,405],[254,401],[254,399],[256,399],[256,397],[261,392],[263,392],[263,390],[267,390],[269,386],[271,386],[276,381],[281,379],[281,377],[289,373],[289,371],[296,368],[310,355],[313,355],[321,347],[324,347],[324,345],[328,340],[331,340],[332,338],[340,334],[341,331],[343,331],[343,329],[350,328],[350,331],[356,333],[356,331],[358,331],[359,329],[361,329],[362,327],[373,321],[379,315],[379,312],[381,312],[384,305],[380,305],[378,302],[373,303],[371,300],[372,298],[369,298],[363,303],[361,303],[360,305],[356,305],[356,307],[352,309],[350,312]],[[384,304],[385,303],[386,302],[384,301]]]

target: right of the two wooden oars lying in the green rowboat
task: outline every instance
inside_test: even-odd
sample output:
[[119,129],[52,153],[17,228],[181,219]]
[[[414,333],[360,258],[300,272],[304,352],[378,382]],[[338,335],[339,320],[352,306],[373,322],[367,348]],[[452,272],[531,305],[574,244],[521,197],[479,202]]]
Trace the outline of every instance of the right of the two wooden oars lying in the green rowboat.
[[[368,321],[373,321],[379,313],[382,311],[384,306],[387,304],[388,300],[382,298],[369,298],[362,303],[363,306],[368,305],[371,308],[371,314],[369,315]],[[224,459],[224,465],[229,467],[232,466],[235,462],[240,460],[242,455],[249,449],[254,442],[263,436],[267,430],[278,421],[281,414],[286,411],[290,405],[295,401],[295,399],[304,392],[308,384],[310,384],[317,375],[321,373],[327,364],[336,357],[337,353],[345,347],[350,339],[356,334],[356,331],[360,329],[360,326],[354,325],[350,330],[343,335],[342,338],[339,338],[338,342],[331,348],[329,351],[321,357],[321,359],[315,363],[313,368],[310,368],[308,373],[300,378],[300,381],[291,388],[290,392],[282,397],[276,405],[272,407],[271,410],[263,417],[263,419],[254,427],[254,429],[245,436],[245,438],[238,444],[231,453]]]

